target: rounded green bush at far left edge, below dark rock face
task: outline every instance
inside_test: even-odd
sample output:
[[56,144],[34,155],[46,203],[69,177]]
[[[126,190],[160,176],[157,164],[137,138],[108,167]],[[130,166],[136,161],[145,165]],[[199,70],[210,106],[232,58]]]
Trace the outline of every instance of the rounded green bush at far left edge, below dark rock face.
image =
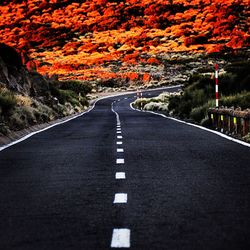
[[16,98],[9,90],[0,90],[0,107],[3,115],[8,114],[17,105]]

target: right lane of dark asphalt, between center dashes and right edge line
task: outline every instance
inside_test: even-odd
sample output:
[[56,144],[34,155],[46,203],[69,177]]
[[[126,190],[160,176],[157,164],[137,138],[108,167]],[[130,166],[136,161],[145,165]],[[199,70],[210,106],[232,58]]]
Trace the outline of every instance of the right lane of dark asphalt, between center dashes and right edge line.
[[132,249],[249,249],[250,149],[122,101]]

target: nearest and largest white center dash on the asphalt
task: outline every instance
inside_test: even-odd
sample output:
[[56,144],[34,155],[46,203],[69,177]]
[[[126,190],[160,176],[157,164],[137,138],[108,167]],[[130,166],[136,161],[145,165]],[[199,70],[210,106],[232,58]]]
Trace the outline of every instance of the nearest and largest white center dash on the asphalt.
[[130,247],[130,230],[127,228],[113,229],[111,247],[129,248]]

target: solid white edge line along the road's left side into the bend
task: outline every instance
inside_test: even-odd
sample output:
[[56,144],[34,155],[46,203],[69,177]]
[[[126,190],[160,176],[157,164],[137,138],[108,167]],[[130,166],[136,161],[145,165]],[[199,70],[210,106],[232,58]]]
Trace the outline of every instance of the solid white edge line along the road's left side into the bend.
[[41,129],[41,130],[32,132],[32,133],[30,133],[30,134],[28,134],[28,135],[25,135],[24,137],[22,137],[22,138],[20,138],[20,139],[18,139],[18,140],[16,140],[16,141],[13,141],[13,142],[11,142],[11,143],[9,143],[9,144],[7,144],[7,145],[1,146],[1,147],[0,147],[0,152],[3,151],[3,150],[6,149],[6,148],[9,148],[9,147],[11,147],[11,146],[14,146],[15,144],[18,144],[18,143],[20,143],[20,142],[22,142],[22,141],[27,140],[28,138],[30,138],[30,137],[33,136],[33,135],[39,134],[39,133],[44,132],[44,131],[46,131],[46,130],[48,130],[48,129],[51,129],[51,128],[55,127],[55,126],[64,124],[64,123],[69,122],[69,121],[71,121],[71,120],[73,120],[73,119],[76,119],[76,118],[78,118],[78,117],[80,117],[80,116],[83,116],[84,114],[89,113],[91,110],[93,110],[93,109],[95,108],[96,103],[97,103],[98,101],[100,101],[100,100],[108,99],[108,98],[115,97],[115,96],[129,95],[129,94],[133,94],[133,93],[136,93],[136,91],[127,92],[127,93],[119,93],[119,94],[115,94],[115,95],[109,95],[109,96],[100,97],[100,98],[98,98],[97,100],[94,101],[93,105],[92,105],[87,111],[84,111],[84,112],[82,112],[82,113],[80,113],[80,114],[78,114],[78,115],[75,115],[74,117],[71,117],[71,118],[69,118],[69,119],[66,119],[66,120],[64,120],[64,121],[61,121],[61,122],[55,123],[55,124],[53,124],[53,125],[50,125],[50,126],[48,126],[48,127],[46,127],[46,128],[43,128],[43,129]]

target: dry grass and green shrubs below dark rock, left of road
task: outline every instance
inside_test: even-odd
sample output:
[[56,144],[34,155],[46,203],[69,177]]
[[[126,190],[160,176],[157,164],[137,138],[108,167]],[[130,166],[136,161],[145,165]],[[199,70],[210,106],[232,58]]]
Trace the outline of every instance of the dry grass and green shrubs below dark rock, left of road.
[[0,87],[0,135],[80,112],[91,87],[79,81],[51,81],[46,97],[32,97]]

